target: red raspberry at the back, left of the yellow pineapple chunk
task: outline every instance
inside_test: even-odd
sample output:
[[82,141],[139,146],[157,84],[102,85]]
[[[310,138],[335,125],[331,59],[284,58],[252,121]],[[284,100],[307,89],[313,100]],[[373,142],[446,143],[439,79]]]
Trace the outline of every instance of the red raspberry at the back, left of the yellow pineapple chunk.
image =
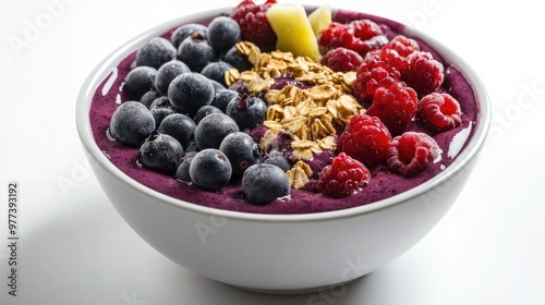
[[266,16],[267,10],[275,3],[276,0],[267,0],[263,4],[243,0],[232,10],[231,17],[241,28],[242,40],[254,42],[262,49],[276,46],[277,36]]

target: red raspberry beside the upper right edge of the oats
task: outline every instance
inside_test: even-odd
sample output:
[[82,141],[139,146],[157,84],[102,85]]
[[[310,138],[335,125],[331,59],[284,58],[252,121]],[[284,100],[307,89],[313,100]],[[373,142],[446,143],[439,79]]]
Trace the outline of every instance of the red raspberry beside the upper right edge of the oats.
[[352,83],[354,96],[362,101],[371,101],[376,88],[389,86],[401,77],[401,73],[391,66],[380,50],[372,50],[364,58]]

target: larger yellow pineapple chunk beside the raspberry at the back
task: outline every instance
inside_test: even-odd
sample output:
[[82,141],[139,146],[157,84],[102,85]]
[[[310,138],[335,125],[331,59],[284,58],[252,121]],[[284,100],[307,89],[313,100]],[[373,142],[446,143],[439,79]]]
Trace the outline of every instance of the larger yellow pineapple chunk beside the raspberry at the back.
[[277,35],[279,50],[319,61],[318,41],[303,5],[276,3],[267,10],[267,20]]

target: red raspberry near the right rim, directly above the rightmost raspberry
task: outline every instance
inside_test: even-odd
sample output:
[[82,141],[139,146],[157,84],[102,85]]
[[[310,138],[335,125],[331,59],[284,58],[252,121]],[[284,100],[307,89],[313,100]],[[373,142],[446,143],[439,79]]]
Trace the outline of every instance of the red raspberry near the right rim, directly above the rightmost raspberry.
[[408,58],[407,69],[401,71],[401,81],[420,96],[436,91],[445,78],[444,68],[429,52],[416,51]]

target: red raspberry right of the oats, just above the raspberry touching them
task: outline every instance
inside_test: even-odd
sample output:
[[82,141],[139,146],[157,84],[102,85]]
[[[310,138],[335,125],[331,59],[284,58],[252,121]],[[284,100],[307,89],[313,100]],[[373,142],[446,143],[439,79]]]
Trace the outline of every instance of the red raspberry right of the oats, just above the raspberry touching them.
[[416,93],[403,82],[396,82],[375,90],[373,103],[365,113],[379,118],[391,135],[399,135],[411,123],[417,106]]

